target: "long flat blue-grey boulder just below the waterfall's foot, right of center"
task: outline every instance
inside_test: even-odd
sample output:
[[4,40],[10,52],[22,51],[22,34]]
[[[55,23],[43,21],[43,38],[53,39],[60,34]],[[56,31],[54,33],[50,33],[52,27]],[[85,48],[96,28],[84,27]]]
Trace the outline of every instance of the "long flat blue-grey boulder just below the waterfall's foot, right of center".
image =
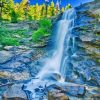
[[71,83],[53,84],[48,87],[48,90],[50,92],[57,90],[61,93],[65,93],[71,96],[84,96],[86,92],[85,86]]

